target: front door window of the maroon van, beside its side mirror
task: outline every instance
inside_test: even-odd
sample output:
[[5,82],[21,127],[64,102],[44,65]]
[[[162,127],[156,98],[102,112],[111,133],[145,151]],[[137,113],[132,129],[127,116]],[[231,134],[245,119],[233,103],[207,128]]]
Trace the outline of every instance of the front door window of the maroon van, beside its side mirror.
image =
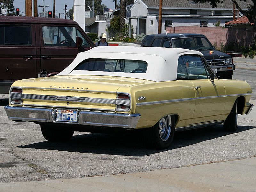
[[43,39],[45,46],[76,46],[76,36],[83,39],[83,45],[89,46],[76,27],[43,26]]

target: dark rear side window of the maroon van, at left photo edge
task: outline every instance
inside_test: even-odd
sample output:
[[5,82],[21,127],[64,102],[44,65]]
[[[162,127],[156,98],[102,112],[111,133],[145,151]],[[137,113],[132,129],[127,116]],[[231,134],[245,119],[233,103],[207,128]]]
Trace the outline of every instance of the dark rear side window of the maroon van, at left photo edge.
[[31,45],[31,29],[26,26],[0,27],[0,44]]

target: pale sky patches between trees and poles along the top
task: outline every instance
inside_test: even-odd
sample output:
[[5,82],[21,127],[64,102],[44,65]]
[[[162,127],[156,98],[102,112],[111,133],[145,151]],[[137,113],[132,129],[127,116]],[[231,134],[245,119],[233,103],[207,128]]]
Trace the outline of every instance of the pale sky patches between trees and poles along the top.
[[[117,0],[117,2],[119,1]],[[55,14],[63,13],[60,15],[60,17],[62,18],[64,18],[65,4],[67,5],[67,9],[71,9],[74,5],[74,0],[55,0]],[[104,4],[105,6],[107,6],[107,8],[110,8],[112,10],[115,9],[115,2],[113,0],[102,0],[101,4]],[[22,16],[25,16],[25,0],[14,0],[13,5],[14,9],[20,8],[20,14],[22,14]],[[50,6],[45,8],[46,13],[48,11],[53,11],[53,0],[45,0],[45,6],[48,5]],[[44,0],[37,0],[37,6],[44,6]],[[42,12],[43,8],[38,7],[38,13]]]

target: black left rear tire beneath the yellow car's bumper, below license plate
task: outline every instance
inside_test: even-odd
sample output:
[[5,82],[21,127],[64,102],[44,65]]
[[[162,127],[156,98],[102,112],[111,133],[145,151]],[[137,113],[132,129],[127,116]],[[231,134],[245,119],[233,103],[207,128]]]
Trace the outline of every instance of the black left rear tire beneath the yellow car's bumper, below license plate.
[[74,134],[74,130],[56,124],[56,126],[41,124],[41,132],[48,141],[63,142],[68,141]]

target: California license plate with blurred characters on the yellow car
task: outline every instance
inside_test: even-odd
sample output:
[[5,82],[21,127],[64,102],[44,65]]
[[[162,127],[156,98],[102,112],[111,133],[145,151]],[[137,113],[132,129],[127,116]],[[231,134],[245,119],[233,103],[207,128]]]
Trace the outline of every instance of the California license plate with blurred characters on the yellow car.
[[56,121],[77,122],[77,110],[57,109]]

